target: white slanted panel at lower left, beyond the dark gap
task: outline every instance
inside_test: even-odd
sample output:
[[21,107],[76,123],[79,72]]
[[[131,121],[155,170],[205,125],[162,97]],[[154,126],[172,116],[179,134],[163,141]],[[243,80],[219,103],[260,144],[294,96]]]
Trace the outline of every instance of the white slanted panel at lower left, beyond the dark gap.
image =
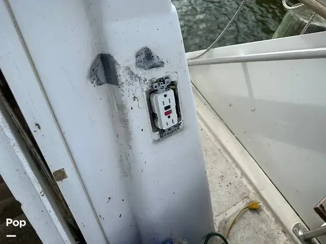
[[28,151],[10,128],[8,118],[0,102],[0,174],[43,243],[75,243]]

